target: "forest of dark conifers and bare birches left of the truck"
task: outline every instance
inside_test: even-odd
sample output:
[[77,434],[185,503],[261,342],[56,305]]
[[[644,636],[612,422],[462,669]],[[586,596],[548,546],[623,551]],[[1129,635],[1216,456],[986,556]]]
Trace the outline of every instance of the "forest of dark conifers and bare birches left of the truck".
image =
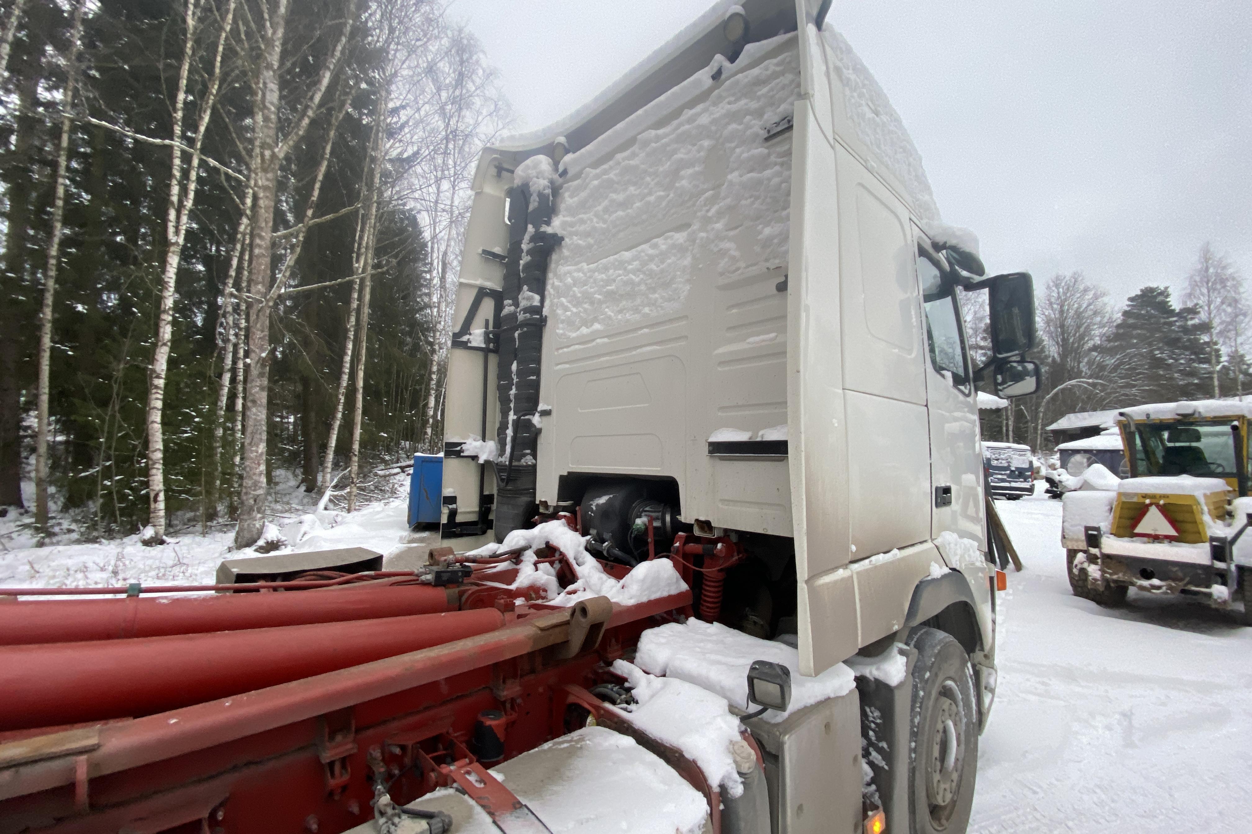
[[441,445],[467,186],[507,123],[444,5],[0,10],[0,506],[248,546],[275,480],[351,509]]

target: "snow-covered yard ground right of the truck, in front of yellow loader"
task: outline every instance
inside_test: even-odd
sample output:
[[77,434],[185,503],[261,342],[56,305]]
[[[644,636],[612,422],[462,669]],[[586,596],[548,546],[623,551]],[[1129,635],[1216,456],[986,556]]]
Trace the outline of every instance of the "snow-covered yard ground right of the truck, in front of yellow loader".
[[1199,601],[1069,593],[1060,501],[997,501],[1025,563],[999,611],[999,694],[973,834],[1252,830],[1252,629]]

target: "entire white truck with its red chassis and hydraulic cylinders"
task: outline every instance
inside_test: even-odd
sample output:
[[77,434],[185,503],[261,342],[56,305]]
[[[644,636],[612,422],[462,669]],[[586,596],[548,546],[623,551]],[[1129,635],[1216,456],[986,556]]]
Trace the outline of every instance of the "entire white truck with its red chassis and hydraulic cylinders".
[[828,8],[485,151],[427,565],[0,605],[0,831],[964,830],[1033,289]]

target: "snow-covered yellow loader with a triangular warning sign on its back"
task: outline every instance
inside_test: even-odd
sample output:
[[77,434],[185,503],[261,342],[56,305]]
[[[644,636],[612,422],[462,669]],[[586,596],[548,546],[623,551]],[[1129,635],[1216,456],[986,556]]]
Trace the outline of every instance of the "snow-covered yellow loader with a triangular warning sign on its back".
[[[1161,403],[1119,414],[1129,478],[1063,496],[1062,544],[1074,594],[1101,605],[1134,588],[1241,609],[1252,625],[1248,418],[1229,400]],[[1106,473],[1107,474],[1107,473]]]

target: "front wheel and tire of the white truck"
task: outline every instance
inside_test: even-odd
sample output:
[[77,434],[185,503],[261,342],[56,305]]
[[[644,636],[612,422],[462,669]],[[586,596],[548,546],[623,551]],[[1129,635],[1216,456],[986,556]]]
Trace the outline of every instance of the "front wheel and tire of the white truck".
[[918,650],[909,721],[909,831],[962,834],[978,774],[978,695],[962,645],[938,629],[909,635]]

